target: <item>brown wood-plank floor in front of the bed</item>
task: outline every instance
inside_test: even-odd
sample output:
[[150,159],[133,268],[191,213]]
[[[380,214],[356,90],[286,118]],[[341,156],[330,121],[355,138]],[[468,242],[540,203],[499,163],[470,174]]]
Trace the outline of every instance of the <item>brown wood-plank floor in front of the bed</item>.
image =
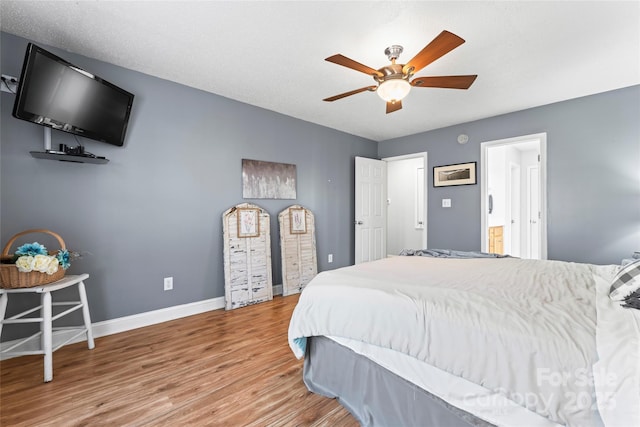
[[307,391],[287,343],[298,296],[216,310],[0,362],[0,425],[357,426]]

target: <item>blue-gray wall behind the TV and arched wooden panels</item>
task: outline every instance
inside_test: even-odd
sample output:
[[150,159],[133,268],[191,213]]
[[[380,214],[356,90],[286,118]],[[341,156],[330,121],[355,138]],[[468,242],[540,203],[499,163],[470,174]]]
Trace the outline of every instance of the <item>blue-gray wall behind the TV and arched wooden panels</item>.
[[[28,41],[1,33],[1,42],[1,71],[17,77]],[[224,295],[221,215],[246,201],[242,158],[297,165],[297,200],[250,200],[271,214],[274,284],[277,214],[294,203],[315,213],[319,270],[353,263],[354,157],[376,157],[375,142],[43,47],[136,96],[123,148],[83,139],[110,159],[92,165],[31,157],[43,149],[43,128],[13,118],[14,95],[1,95],[1,241],[48,228],[88,253],[68,274],[90,273],[94,322]],[[53,131],[59,143],[76,145]],[[166,276],[173,291],[162,290]],[[9,312],[33,304],[29,297],[10,298]],[[3,341],[24,335],[4,329]]]

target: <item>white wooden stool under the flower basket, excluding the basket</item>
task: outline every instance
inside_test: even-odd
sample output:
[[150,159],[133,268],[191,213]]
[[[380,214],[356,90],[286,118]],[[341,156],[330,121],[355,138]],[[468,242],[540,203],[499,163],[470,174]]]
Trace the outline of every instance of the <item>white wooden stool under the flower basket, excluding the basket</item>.
[[[91,331],[91,317],[89,315],[89,304],[87,303],[87,292],[84,288],[84,280],[89,277],[88,274],[80,274],[77,276],[66,276],[57,282],[50,283],[43,286],[34,286],[32,288],[16,288],[16,289],[0,289],[0,335],[2,335],[2,326],[14,323],[40,323],[40,332],[37,332],[30,337],[20,340],[18,343],[3,349],[2,354],[12,356],[24,356],[28,354],[44,354],[44,381],[49,382],[53,379],[53,352],[76,339],[82,334],[87,334],[87,344],[89,349],[95,347],[93,341],[93,333]],[[69,286],[78,285],[78,293],[80,295],[80,301],[65,301],[65,302],[51,302],[51,292],[68,288]],[[8,319],[5,319],[7,311],[7,302],[9,300],[9,294],[18,293],[37,293],[40,294],[40,305],[23,311],[20,314],[16,314]],[[71,306],[61,313],[52,315],[52,306]],[[53,327],[53,321],[60,319],[67,314],[82,308],[82,314],[84,317],[84,326],[73,327]],[[40,317],[26,317],[27,315],[40,310]],[[54,344],[54,331],[61,331],[63,333],[58,335],[64,335],[61,342]],[[36,338],[40,338],[40,349],[38,350],[20,350],[21,346],[28,346],[28,343]],[[57,340],[56,340],[57,341]]]

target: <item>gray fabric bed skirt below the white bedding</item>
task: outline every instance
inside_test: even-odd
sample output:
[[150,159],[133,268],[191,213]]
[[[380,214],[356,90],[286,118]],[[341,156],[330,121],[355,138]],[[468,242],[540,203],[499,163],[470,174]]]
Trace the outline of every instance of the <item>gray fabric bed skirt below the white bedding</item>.
[[307,339],[303,379],[363,426],[492,426],[326,337]]

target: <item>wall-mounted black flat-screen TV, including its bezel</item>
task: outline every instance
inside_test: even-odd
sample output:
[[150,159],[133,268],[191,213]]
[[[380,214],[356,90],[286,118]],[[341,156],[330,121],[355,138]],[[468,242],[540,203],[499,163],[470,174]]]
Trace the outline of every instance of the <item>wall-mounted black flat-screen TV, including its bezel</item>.
[[122,146],[133,95],[29,43],[13,116]]

